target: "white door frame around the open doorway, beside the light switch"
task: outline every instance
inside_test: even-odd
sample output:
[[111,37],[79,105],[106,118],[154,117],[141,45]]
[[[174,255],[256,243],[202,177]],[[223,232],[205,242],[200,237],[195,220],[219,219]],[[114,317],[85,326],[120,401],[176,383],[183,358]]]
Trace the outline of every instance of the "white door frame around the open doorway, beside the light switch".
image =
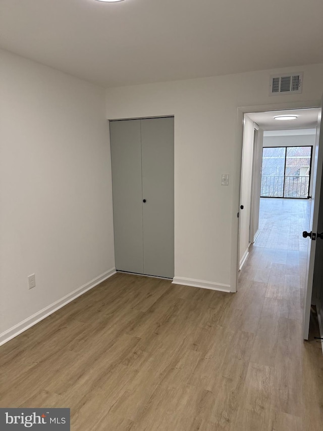
[[[278,98],[279,96],[277,96]],[[237,107],[236,119],[236,148],[235,159],[233,160],[233,172],[236,173],[233,181],[233,211],[231,229],[231,292],[237,292],[238,271],[239,271],[239,219],[237,214],[240,205],[240,182],[241,182],[241,161],[243,143],[243,116],[251,112],[285,111],[290,109],[320,108],[320,100],[304,102],[285,102],[267,105],[250,105]]]

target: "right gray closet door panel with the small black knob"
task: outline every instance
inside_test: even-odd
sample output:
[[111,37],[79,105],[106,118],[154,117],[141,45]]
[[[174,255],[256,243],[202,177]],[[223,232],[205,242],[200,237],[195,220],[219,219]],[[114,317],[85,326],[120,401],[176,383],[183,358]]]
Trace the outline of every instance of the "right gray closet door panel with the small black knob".
[[174,118],[141,121],[144,274],[174,277]]

